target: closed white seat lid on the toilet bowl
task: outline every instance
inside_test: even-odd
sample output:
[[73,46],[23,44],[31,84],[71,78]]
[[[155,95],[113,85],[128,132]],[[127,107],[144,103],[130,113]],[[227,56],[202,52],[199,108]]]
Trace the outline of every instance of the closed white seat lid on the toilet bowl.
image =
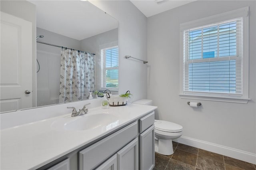
[[168,121],[162,121],[162,120],[155,120],[155,128],[157,130],[161,130],[164,132],[181,132],[182,131],[182,126],[168,122]]

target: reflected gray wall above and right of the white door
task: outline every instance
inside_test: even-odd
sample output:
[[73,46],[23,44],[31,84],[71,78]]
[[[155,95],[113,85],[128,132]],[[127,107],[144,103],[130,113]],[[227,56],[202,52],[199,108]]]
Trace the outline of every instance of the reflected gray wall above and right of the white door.
[[[1,0],[1,11],[32,22],[32,56],[36,56],[36,6],[24,0]],[[36,91],[36,57],[32,57],[32,90]],[[36,93],[33,95],[33,107],[36,107]]]

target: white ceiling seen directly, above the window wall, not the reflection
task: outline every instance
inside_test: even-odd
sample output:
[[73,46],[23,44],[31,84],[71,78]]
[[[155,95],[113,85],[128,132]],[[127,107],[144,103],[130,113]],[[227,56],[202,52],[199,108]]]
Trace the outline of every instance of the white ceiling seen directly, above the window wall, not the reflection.
[[130,0],[146,17],[188,4],[195,0]]

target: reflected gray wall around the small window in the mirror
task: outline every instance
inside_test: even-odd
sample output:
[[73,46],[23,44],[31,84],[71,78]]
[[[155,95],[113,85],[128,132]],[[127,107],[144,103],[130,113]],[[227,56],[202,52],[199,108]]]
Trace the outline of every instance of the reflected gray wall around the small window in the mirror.
[[[81,40],[81,49],[95,53],[95,85],[96,90],[101,89],[101,63],[100,45],[116,42],[118,43],[118,28]],[[118,44],[116,44],[118,45]],[[113,93],[113,91],[111,91]],[[118,92],[117,92],[118,93]]]

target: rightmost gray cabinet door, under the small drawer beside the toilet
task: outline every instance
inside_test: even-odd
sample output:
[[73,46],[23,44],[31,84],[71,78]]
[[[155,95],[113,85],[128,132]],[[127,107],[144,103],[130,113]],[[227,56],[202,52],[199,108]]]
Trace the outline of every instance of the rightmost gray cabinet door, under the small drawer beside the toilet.
[[140,134],[140,170],[155,166],[154,125]]

